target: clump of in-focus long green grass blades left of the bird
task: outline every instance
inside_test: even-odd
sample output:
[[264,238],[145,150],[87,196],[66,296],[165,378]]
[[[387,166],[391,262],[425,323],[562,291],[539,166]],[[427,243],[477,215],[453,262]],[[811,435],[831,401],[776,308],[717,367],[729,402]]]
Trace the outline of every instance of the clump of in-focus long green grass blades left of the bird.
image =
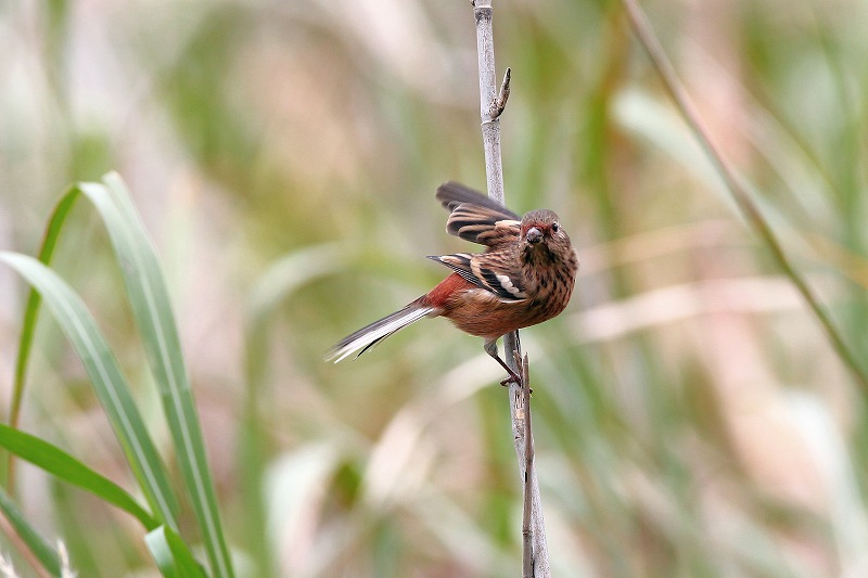
[[[51,261],[72,205],[84,195],[93,203],[103,218],[117,259],[122,264],[132,314],[137,320],[142,344],[149,354],[150,364],[159,387],[166,419],[179,457],[179,466],[200,524],[212,574],[232,576],[232,565],[217,513],[214,484],[205,458],[204,440],[186,375],[165,280],[153,246],[130,204],[124,183],[115,175],[108,175],[105,182],[105,185],[81,184],[61,198],[43,237],[41,260],[14,253],[0,253],[0,261],[15,269],[34,287],[28,298],[25,330],[22,332],[22,344],[18,348],[23,352],[18,357],[16,371],[16,376],[20,376],[21,381],[15,384],[12,421],[17,422],[25,388],[23,376],[31,350],[34,326],[39,305],[44,300],[85,365],[97,397],[120,442],[139,488],[148,499],[152,513],[149,515],[143,512],[119,487],[38,438],[15,437],[12,434],[14,429],[9,429],[3,446],[65,481],[85,487],[106,502],[132,513],[148,529],[153,529],[161,523],[166,524],[168,530],[174,530],[171,539],[167,539],[174,557],[180,555],[179,549],[187,548],[180,537],[175,535],[178,530],[179,504],[168,473],[148,433],[116,357],[80,297],[43,265]],[[13,444],[15,441],[17,444]],[[47,457],[47,452],[50,455]],[[153,552],[154,542],[149,543]],[[163,568],[165,556],[159,556],[156,552],[154,555]],[[187,557],[192,560],[189,552]],[[183,573],[175,575],[189,576]]]

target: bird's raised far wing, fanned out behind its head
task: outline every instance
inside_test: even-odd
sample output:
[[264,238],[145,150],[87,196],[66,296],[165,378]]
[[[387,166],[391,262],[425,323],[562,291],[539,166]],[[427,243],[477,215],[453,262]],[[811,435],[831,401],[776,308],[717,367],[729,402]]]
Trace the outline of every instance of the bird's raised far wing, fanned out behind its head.
[[452,181],[441,184],[436,197],[451,211],[450,234],[492,248],[519,239],[521,218],[497,201]]

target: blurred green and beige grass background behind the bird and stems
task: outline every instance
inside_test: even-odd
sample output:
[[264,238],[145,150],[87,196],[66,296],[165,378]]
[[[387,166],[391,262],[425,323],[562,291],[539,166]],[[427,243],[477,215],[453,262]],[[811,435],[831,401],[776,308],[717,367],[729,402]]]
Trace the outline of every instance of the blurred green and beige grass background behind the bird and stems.
[[[866,7],[646,8],[865,359]],[[567,311],[523,332],[554,575],[868,574],[868,393],[744,227],[620,4],[503,0],[495,33],[513,70],[508,203],[558,210],[583,262]],[[445,274],[424,255],[469,248],[433,192],[485,183],[474,35],[458,0],[0,5],[0,247],[34,254],[69,182],[127,180],[168,272],[242,576],[520,567],[507,400],[480,341],[435,320],[321,360]],[[76,209],[55,264],[171,453],[92,211]],[[0,270],[3,407],[25,296]],[[34,361],[23,428],[129,487],[48,318]],[[23,510],[81,576],[156,573],[128,517],[18,476]]]

